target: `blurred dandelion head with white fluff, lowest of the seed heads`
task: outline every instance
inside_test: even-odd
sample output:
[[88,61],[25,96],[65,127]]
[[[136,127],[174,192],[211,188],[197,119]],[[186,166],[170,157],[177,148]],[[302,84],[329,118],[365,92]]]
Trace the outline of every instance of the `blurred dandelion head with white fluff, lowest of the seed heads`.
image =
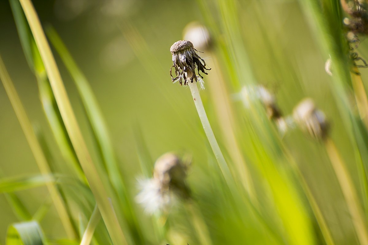
[[178,198],[189,198],[190,189],[185,181],[187,165],[173,154],[166,153],[157,159],[153,170],[153,178],[138,180],[141,190],[135,200],[145,212],[166,212]]

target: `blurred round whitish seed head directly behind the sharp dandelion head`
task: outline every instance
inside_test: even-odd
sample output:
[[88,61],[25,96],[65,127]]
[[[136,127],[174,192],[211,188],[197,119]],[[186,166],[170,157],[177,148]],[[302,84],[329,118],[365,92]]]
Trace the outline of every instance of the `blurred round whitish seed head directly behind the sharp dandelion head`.
[[198,22],[190,22],[183,31],[184,40],[189,40],[199,51],[208,51],[212,46],[212,39],[208,29]]

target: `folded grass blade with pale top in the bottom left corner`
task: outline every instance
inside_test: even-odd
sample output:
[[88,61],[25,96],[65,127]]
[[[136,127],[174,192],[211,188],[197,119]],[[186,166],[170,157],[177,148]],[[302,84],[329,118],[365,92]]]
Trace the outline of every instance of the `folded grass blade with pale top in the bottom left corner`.
[[6,245],[47,245],[41,227],[36,221],[11,225],[6,236]]

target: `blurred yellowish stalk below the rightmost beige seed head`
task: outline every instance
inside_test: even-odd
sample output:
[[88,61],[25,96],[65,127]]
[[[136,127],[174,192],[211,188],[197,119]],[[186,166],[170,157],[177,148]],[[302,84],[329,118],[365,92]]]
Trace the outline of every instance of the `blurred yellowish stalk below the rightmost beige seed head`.
[[336,149],[335,144],[330,138],[325,140],[326,150],[330,157],[332,167],[335,170],[337,180],[340,183],[341,190],[348,206],[351,220],[355,227],[360,244],[368,244],[368,231],[364,222],[364,213],[358,201],[358,195],[355,191],[353,181],[343,163],[343,160]]

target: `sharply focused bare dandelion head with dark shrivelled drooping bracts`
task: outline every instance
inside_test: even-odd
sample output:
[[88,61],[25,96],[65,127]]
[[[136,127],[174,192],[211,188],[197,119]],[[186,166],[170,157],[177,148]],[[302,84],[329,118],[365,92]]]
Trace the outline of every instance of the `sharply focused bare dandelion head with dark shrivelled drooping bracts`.
[[[193,44],[187,40],[179,40],[175,42],[170,47],[170,52],[173,55],[173,66],[170,68],[170,76],[173,82],[179,81],[180,85],[183,84],[182,80],[184,79],[184,85],[187,85],[187,76],[188,72],[192,77],[190,78],[191,82],[193,79],[197,82],[197,75],[195,73],[195,67],[197,66],[198,75],[203,78],[199,74],[199,71],[208,74],[205,70],[210,70],[206,68],[206,62],[199,57],[199,55],[195,52],[198,51],[194,48]],[[203,64],[202,64],[203,62]],[[172,75],[172,68],[175,68],[176,78]]]

